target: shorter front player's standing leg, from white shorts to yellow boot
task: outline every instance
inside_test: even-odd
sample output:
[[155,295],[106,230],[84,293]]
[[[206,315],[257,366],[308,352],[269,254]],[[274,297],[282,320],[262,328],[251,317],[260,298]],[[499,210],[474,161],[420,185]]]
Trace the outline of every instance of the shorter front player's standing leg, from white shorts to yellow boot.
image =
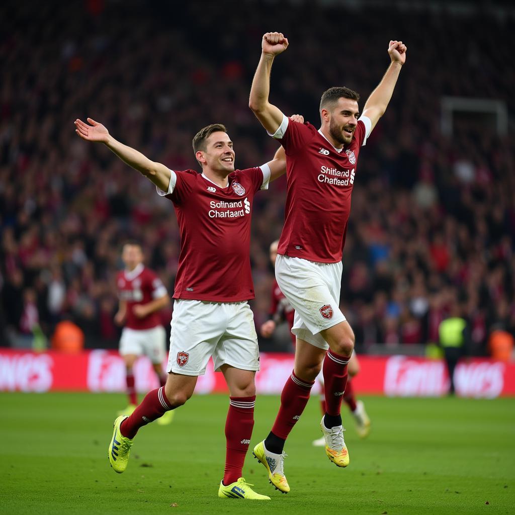
[[226,499],[269,500],[252,490],[243,476],[252,428],[254,427],[255,383],[259,370],[258,337],[250,307],[246,302],[224,303],[221,313],[227,319],[226,334],[213,354],[215,370],[220,370],[229,387],[227,413],[226,462],[218,496]]

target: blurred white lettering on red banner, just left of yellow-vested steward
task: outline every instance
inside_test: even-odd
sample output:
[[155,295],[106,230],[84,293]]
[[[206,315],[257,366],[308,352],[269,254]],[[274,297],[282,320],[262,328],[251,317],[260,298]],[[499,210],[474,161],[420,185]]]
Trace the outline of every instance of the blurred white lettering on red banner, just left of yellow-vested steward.
[[392,356],[385,367],[384,392],[388,396],[434,397],[448,390],[445,365],[441,361],[415,361]]

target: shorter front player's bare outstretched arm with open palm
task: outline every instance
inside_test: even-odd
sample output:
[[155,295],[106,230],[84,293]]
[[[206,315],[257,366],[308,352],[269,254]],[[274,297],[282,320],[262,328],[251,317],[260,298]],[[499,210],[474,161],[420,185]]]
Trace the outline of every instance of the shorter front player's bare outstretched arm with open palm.
[[75,132],[86,141],[96,143],[104,143],[106,147],[112,150],[122,161],[129,166],[138,170],[147,179],[151,180],[158,188],[168,191],[170,184],[171,172],[161,163],[150,161],[141,152],[135,150],[119,141],[116,141],[104,125],[95,122],[92,118],[87,118],[88,125],[78,118],[75,120]]

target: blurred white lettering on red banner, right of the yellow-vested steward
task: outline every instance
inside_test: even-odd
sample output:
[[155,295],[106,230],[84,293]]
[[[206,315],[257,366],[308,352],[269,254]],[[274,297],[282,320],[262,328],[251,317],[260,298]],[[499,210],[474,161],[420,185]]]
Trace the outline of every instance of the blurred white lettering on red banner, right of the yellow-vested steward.
[[454,371],[456,392],[463,397],[499,397],[504,387],[505,364],[460,363]]

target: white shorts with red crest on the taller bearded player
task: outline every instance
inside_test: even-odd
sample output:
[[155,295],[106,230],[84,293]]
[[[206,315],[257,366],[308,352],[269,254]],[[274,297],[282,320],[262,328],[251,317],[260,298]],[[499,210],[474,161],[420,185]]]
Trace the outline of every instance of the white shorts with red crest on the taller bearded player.
[[320,331],[346,320],[339,307],[341,269],[341,261],[316,263],[277,255],[277,283],[295,308],[291,332],[320,349],[329,349]]

